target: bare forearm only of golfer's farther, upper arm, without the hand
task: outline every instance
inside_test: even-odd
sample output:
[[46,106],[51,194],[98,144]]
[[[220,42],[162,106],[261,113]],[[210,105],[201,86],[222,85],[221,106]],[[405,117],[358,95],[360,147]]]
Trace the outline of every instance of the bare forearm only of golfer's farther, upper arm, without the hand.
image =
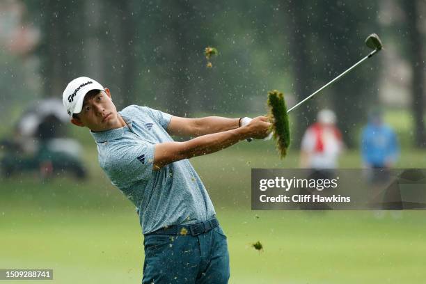
[[223,118],[221,116],[198,118],[196,136],[237,129],[239,127],[238,122],[239,118]]

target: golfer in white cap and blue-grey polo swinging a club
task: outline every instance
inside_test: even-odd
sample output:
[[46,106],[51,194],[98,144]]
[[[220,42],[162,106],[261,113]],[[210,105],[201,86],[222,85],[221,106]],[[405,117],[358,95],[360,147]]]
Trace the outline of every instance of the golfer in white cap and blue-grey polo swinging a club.
[[[180,118],[137,105],[117,111],[109,89],[88,77],[68,84],[63,104],[74,125],[90,129],[100,166],[136,206],[144,235],[142,283],[228,283],[226,235],[188,159],[265,138],[267,117]],[[196,138],[175,142],[170,135]]]

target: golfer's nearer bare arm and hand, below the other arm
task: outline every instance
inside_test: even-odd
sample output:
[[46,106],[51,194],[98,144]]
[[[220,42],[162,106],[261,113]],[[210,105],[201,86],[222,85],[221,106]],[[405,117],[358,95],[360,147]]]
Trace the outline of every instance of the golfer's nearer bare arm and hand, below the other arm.
[[206,134],[185,142],[166,142],[155,145],[154,169],[157,170],[166,164],[189,159],[192,157],[207,155],[230,145],[253,137],[263,139],[268,135],[269,125],[266,116],[255,118],[244,127],[230,129],[224,132]]

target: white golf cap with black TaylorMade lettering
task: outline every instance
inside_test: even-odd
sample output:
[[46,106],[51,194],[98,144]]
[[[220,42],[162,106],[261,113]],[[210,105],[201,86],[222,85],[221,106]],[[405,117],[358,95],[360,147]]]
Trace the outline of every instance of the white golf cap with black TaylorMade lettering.
[[70,81],[62,94],[63,105],[70,116],[72,116],[73,113],[81,112],[81,109],[83,109],[84,96],[90,90],[104,90],[104,87],[89,77],[78,77]]

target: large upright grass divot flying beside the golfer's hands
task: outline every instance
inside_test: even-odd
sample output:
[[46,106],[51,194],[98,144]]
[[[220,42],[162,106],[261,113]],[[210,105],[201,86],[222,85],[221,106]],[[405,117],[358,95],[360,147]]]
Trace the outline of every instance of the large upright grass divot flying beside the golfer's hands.
[[276,148],[282,159],[287,155],[287,148],[290,145],[290,126],[283,93],[278,90],[269,91],[267,104],[269,108],[267,116],[271,121],[271,131],[274,133]]

